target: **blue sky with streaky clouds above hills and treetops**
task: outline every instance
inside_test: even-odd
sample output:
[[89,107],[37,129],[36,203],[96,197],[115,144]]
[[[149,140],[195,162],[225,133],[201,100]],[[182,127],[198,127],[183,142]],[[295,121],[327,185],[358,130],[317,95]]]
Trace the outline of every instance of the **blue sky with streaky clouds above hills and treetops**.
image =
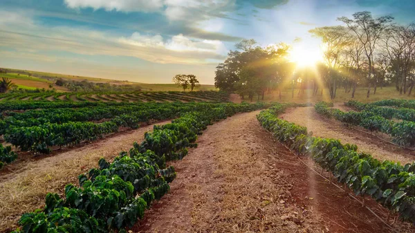
[[313,51],[320,41],[308,30],[363,10],[415,21],[414,0],[0,0],[0,67],[145,83],[194,74],[214,84],[241,39]]

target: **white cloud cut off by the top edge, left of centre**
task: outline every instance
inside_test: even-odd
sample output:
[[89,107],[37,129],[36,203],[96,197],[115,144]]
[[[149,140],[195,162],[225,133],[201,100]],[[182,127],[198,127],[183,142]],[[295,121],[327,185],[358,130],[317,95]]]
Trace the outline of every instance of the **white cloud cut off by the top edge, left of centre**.
[[154,12],[163,8],[162,0],[64,0],[68,8],[93,8],[123,12]]

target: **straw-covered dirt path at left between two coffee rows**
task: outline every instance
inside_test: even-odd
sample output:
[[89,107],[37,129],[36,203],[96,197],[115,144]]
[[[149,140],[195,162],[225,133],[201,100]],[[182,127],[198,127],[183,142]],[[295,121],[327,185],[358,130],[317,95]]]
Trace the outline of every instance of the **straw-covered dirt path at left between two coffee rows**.
[[[170,121],[157,124],[167,124]],[[154,125],[109,137],[57,155],[26,162],[25,167],[8,173],[0,180],[0,232],[17,227],[21,214],[31,212],[44,205],[48,192],[63,194],[68,183],[77,184],[77,176],[98,167],[98,160],[118,156],[128,151],[133,142],[143,140],[144,133]],[[6,169],[6,168],[3,168]]]

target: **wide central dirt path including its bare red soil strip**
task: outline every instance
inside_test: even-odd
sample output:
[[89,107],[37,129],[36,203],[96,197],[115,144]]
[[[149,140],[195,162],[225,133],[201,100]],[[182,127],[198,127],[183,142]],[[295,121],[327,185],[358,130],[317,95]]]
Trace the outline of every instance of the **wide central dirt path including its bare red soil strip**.
[[257,113],[208,127],[196,149],[172,162],[171,191],[132,232],[388,232],[273,140]]

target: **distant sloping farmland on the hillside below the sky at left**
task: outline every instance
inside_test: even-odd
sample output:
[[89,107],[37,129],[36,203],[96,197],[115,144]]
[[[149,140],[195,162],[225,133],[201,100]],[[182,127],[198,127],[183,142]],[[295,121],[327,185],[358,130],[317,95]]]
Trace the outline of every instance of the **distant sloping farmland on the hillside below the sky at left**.
[[[119,80],[109,80],[99,77],[85,77],[77,75],[64,75],[57,73],[46,73],[39,71],[24,71],[7,68],[7,74],[0,74],[0,77],[8,77],[12,80],[13,83],[21,86],[28,86],[33,88],[46,88],[48,89],[49,84],[55,83],[55,80],[62,78],[64,80],[74,80],[74,81],[89,81],[89,82],[103,82],[109,84],[138,84],[142,87],[142,91],[183,91],[183,89],[176,84],[145,84],[138,82],[129,82],[129,81],[119,81]],[[27,74],[30,73],[32,77],[29,77]],[[18,75],[19,74],[19,75]],[[29,82],[30,81],[30,82]],[[61,86],[55,86],[57,91],[69,91],[67,88]],[[22,87],[24,88],[24,87]],[[214,85],[205,85],[202,84],[196,91],[218,91]]]

